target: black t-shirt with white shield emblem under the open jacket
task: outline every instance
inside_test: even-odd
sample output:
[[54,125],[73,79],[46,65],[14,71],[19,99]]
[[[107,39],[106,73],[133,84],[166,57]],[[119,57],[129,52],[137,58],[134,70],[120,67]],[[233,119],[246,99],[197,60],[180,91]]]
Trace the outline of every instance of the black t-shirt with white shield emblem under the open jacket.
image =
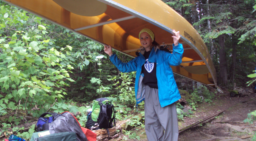
[[142,80],[143,84],[148,85],[150,88],[157,88],[156,79],[156,63],[148,62],[148,57],[151,51],[145,52],[144,57],[146,59],[145,64],[142,66],[142,73],[144,73],[144,78]]

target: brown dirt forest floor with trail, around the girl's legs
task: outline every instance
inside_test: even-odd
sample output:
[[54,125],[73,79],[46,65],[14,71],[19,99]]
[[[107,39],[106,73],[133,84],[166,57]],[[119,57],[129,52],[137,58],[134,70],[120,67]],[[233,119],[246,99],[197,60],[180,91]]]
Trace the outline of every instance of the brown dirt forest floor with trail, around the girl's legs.
[[[245,101],[245,102],[244,102]],[[230,107],[231,106],[231,107]],[[228,108],[230,107],[230,108]],[[179,141],[250,141],[252,134],[256,131],[256,122],[244,123],[247,114],[256,110],[256,95],[245,97],[231,97],[230,94],[217,95],[210,103],[198,105],[193,115],[179,121],[179,129],[190,126],[214,113],[228,108],[198,126],[179,134]],[[128,141],[147,141],[145,130],[141,128],[132,129],[140,139],[129,139]],[[120,134],[120,133],[119,133]],[[113,141],[123,141],[123,134]],[[126,136],[128,137],[128,136]],[[249,138],[248,138],[249,137]],[[245,139],[243,139],[245,138]]]

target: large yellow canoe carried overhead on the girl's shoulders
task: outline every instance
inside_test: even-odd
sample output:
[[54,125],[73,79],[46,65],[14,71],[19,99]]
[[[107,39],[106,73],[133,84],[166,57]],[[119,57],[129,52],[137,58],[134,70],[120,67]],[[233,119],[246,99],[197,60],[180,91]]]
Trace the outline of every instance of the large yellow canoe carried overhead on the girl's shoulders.
[[180,31],[184,54],[173,72],[217,87],[216,71],[199,33],[161,0],[2,0],[101,44],[136,57],[138,34],[149,28],[172,50],[172,31]]

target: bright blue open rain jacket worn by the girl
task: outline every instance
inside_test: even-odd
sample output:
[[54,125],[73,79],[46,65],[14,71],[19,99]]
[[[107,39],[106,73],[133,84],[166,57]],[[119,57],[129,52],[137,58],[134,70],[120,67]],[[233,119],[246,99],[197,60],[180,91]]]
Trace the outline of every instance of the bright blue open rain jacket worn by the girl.
[[[181,98],[179,89],[173,77],[171,66],[179,66],[183,54],[182,44],[174,46],[173,53],[159,50],[159,47],[154,46],[150,52],[148,61],[156,63],[156,77],[158,85],[159,102],[162,107],[170,105]],[[142,83],[143,74],[141,74],[141,67],[145,63],[143,56],[145,49],[142,49],[139,56],[132,59],[128,63],[122,63],[116,54],[110,56],[110,61],[123,73],[134,72],[135,78],[135,96],[137,105],[145,99],[145,85]]]

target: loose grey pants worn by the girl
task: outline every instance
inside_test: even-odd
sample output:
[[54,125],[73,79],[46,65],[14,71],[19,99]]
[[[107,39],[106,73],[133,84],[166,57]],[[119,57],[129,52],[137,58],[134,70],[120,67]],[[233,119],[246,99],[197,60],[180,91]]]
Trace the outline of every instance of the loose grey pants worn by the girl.
[[158,89],[145,89],[145,130],[148,141],[177,141],[179,136],[175,103],[161,107]]

